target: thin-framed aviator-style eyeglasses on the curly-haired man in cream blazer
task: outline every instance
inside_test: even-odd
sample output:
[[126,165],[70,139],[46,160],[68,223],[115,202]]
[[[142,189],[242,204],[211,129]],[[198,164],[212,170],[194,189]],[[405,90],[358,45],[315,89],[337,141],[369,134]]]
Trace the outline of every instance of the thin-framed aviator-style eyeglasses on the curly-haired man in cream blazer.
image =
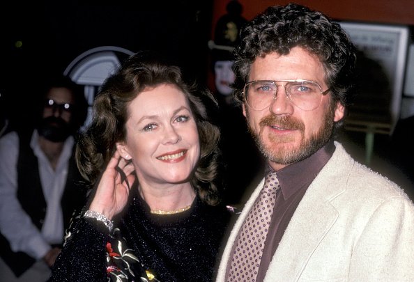
[[[286,82],[286,84],[277,84],[278,82]],[[277,98],[279,86],[284,86],[284,92],[292,104],[305,111],[319,107],[322,96],[330,90],[328,88],[322,91],[317,82],[305,79],[254,80],[247,82],[243,88],[247,105],[256,111],[270,107]]]

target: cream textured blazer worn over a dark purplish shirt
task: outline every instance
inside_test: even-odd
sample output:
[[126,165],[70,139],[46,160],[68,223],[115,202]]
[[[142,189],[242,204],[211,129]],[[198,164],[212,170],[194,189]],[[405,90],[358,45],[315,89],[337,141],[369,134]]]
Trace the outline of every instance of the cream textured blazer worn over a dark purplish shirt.
[[[294,212],[264,281],[413,282],[413,202],[335,146]],[[231,230],[217,282],[225,281],[231,246],[263,181]]]

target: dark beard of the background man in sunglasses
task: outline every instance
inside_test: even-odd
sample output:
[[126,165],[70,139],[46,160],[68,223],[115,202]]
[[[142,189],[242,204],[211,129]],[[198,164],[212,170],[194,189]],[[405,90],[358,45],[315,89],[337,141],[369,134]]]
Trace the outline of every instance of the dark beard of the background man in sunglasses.
[[52,142],[63,142],[72,134],[70,125],[56,116],[49,116],[40,120],[37,130],[40,136]]

